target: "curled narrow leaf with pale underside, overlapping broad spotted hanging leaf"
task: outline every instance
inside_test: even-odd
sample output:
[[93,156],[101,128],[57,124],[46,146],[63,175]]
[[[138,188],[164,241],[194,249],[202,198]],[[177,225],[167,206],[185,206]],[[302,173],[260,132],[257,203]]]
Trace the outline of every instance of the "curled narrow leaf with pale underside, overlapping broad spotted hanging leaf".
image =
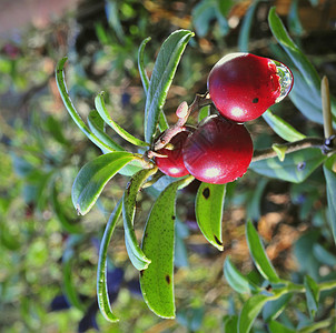
[[136,199],[139,190],[146,180],[157,172],[157,168],[144,169],[137,172],[128,182],[122,198],[122,219],[125,229],[125,243],[128,256],[137,270],[145,270],[148,268],[150,260],[145,255],[140,249],[135,228],[135,214],[136,214]]

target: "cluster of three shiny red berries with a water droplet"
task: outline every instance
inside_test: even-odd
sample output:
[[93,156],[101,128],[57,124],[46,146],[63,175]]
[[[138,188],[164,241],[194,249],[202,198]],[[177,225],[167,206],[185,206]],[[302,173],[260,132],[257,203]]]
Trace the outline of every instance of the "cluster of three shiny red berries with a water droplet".
[[224,184],[243,176],[253,158],[253,141],[243,123],[283,100],[293,87],[293,74],[280,62],[231,53],[215,64],[207,83],[219,114],[207,117],[196,130],[184,128],[155,160],[170,176],[191,174]]

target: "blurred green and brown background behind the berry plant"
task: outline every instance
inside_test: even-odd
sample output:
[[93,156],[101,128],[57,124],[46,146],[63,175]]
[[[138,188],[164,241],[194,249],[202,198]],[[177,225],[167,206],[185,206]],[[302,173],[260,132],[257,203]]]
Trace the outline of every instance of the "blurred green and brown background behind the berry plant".
[[[115,286],[112,306],[121,321],[109,324],[96,305],[98,246],[127,178],[116,176],[86,216],[77,216],[71,203],[77,172],[100,151],[63,108],[53,77],[59,59],[69,57],[67,83],[83,118],[93,108],[95,95],[103,90],[113,119],[142,138],[145,94],[137,68],[141,41],[151,37],[145,51],[150,73],[169,33],[177,29],[196,32],[165,107],[174,123],[177,105],[184,100],[191,103],[195,93],[206,91],[207,74],[224,54],[248,50],[281,57],[267,23],[271,6],[320,77],[328,75],[335,94],[335,1],[1,1],[1,332],[93,332],[98,326],[101,332],[221,332],[224,316],[244,302],[223,278],[224,259],[230,254],[243,272],[253,271],[244,235],[247,218],[257,222],[280,275],[297,281],[304,273],[316,280],[335,275],[336,252],[326,222],[322,171],[304,184],[260,181],[248,172],[229,186],[223,253],[208,245],[196,226],[197,184],[180,194],[174,321],[161,320],[147,309],[139,295],[137,272],[127,258],[122,228],[117,226],[110,259],[122,270],[123,279]],[[304,118],[288,98],[275,111],[306,134],[323,134],[323,128]],[[248,128],[257,148],[281,142],[263,119]],[[150,194],[140,194],[139,230],[151,202]],[[73,293],[80,299],[78,307],[69,302]],[[285,315],[305,321],[303,299],[297,296],[296,310],[288,309]],[[335,315],[333,294],[320,316],[330,309]]]

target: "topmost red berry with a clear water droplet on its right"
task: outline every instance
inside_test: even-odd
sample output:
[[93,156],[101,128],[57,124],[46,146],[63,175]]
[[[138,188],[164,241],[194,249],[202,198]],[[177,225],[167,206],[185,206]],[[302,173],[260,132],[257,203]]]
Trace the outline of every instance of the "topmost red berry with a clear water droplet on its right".
[[210,98],[221,115],[236,122],[254,120],[283,100],[293,74],[283,63],[249,53],[219,60],[208,77]]

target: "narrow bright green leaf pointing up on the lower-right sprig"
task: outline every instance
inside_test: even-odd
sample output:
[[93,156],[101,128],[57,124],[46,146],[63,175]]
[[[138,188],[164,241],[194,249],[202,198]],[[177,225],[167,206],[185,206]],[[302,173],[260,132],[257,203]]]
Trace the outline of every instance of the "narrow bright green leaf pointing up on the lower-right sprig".
[[246,223],[246,238],[249,252],[259,273],[270,282],[279,282],[279,278],[266,255],[261,240],[250,221]]

